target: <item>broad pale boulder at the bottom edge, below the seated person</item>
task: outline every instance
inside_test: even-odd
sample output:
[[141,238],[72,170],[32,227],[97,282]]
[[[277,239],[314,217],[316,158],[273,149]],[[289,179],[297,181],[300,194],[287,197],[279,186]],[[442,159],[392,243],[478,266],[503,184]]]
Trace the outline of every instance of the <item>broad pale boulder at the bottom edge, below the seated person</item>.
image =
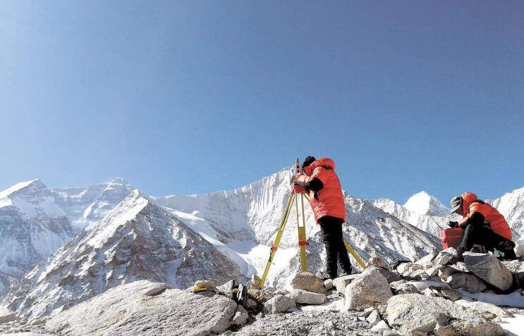
[[405,335],[504,335],[500,325],[478,311],[441,297],[396,295],[387,302],[386,315],[389,325]]

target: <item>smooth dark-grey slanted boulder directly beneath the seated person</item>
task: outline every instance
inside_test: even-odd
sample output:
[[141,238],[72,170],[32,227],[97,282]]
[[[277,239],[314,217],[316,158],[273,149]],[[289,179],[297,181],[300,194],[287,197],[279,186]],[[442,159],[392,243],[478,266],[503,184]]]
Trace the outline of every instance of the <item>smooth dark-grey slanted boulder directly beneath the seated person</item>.
[[468,270],[501,291],[511,289],[513,275],[491,254],[464,252],[464,263]]

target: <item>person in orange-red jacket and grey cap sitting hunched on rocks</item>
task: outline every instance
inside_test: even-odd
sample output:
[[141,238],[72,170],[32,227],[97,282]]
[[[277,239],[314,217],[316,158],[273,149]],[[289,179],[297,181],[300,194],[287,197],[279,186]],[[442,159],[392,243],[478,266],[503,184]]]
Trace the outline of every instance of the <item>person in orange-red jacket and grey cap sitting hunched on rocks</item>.
[[464,230],[464,237],[457,249],[459,254],[470,251],[476,244],[487,251],[496,249],[502,252],[504,259],[516,259],[511,229],[504,216],[493,206],[478,199],[473,192],[464,192],[451,199],[451,212],[462,216],[458,222],[449,223],[452,228]]

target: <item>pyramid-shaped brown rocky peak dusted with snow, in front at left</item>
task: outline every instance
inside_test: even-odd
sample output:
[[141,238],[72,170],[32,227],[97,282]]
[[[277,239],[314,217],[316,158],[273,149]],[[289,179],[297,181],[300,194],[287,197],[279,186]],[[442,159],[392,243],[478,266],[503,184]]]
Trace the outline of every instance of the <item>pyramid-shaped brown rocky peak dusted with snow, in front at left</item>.
[[235,263],[135,190],[25,275],[4,303],[21,316],[42,316],[135,280],[186,288],[239,277]]

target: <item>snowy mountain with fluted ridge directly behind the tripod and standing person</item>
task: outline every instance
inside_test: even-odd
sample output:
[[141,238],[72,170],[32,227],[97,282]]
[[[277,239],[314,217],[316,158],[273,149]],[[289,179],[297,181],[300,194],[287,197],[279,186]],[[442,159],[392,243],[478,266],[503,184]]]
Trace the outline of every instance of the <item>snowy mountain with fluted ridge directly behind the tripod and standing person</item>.
[[[243,273],[261,273],[269,247],[290,195],[288,169],[250,185],[230,191],[190,196],[154,197],[155,201],[188,223],[219,251],[236,261]],[[439,241],[427,232],[378,209],[372,203],[344,194],[348,220],[345,237],[367,259],[416,259],[439,249]],[[305,201],[310,270],[322,269],[324,247],[309,204]],[[295,211],[281,239],[281,248],[268,278],[272,285],[284,285],[298,269],[298,239]],[[355,264],[355,263],[354,263]]]

